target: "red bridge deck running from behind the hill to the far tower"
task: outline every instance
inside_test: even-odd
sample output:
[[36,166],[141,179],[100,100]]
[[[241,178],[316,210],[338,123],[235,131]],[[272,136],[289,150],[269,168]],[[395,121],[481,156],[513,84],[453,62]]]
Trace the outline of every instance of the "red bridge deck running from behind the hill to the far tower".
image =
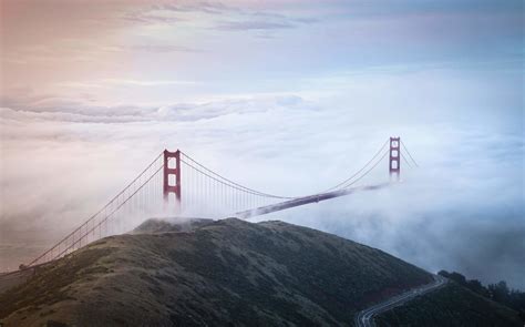
[[368,186],[360,186],[360,187],[351,187],[351,188],[343,188],[343,190],[338,190],[338,191],[332,191],[332,192],[326,192],[326,193],[319,193],[315,195],[308,195],[308,196],[302,196],[302,197],[297,197],[292,198],[289,201],[280,202],[277,204],[270,204],[270,205],[265,205],[260,206],[254,210],[248,210],[248,211],[243,211],[238,212],[235,214],[236,217],[238,218],[249,218],[254,216],[260,216],[260,215],[266,215],[269,213],[287,210],[290,207],[299,206],[299,205],[305,205],[309,203],[317,203],[339,196],[344,196],[352,194],[358,191],[374,191],[379,188],[383,188],[387,186],[392,185],[393,183],[382,183],[382,184],[375,184],[375,185],[368,185]]

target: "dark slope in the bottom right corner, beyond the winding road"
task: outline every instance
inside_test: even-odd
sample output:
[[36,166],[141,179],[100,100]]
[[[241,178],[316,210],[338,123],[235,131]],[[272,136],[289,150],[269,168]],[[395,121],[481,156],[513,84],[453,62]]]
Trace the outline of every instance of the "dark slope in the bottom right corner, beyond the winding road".
[[523,326],[516,311],[488,300],[454,282],[418,300],[381,314],[380,327],[390,326]]

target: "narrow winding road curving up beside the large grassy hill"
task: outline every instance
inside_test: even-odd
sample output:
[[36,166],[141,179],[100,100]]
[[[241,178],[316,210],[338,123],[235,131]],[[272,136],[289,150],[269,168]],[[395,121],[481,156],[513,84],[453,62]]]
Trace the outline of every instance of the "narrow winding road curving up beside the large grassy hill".
[[385,302],[382,302],[380,304],[371,306],[370,308],[359,311],[356,315],[354,325],[359,327],[373,327],[375,326],[375,323],[373,321],[373,317],[375,315],[390,310],[397,306],[403,305],[408,303],[409,300],[415,298],[416,296],[435,290],[446,284],[446,278],[440,275],[433,275],[433,277],[434,277],[434,282],[430,284],[425,284],[418,288],[412,288],[409,292],[399,294],[394,297],[389,298]]

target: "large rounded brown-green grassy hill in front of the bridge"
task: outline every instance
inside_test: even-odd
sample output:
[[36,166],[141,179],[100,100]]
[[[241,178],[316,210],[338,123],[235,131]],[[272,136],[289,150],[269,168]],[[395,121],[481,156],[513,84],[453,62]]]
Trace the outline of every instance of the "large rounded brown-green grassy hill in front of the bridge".
[[[165,231],[150,224],[142,231]],[[369,304],[431,280],[381,251],[280,222],[192,226],[106,237],[44,266],[0,295],[0,318],[7,326],[349,325]]]

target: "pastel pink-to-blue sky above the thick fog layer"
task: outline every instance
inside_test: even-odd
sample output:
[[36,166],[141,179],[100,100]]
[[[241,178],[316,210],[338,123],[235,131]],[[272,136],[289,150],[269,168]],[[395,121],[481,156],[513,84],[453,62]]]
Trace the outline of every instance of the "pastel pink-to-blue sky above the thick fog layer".
[[41,111],[321,96],[378,73],[521,74],[522,37],[522,1],[3,0],[2,93]]

